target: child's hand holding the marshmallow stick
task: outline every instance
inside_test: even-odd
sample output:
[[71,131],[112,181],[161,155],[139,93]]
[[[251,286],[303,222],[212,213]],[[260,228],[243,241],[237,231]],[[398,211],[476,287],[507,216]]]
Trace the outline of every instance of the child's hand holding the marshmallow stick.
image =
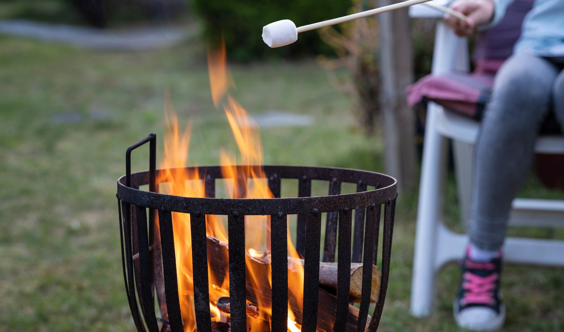
[[444,22],[462,37],[472,34],[477,26],[488,23],[492,19],[494,6],[491,0],[457,0],[451,8],[468,17],[461,21],[454,16],[444,15]]

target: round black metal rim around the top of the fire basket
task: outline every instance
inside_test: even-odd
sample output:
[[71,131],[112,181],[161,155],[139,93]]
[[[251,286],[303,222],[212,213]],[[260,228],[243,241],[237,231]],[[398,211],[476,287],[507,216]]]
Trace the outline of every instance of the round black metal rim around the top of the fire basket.
[[[173,167],[163,170],[188,170],[188,169],[215,169],[219,166],[186,166]],[[255,166],[250,166],[255,167]],[[259,167],[259,166],[256,166]],[[274,215],[274,214],[303,214],[316,212],[330,212],[340,210],[360,209],[370,205],[381,205],[390,201],[391,196],[395,196],[397,181],[392,176],[364,170],[345,169],[339,167],[319,167],[319,166],[281,166],[281,165],[261,165],[261,167],[283,167],[294,170],[324,170],[324,171],[350,171],[355,174],[378,176],[382,179],[390,180],[391,184],[386,187],[376,188],[371,191],[356,192],[349,194],[336,194],[328,196],[314,197],[284,197],[284,198],[210,198],[210,197],[184,197],[156,192],[142,191],[130,188],[125,185],[126,176],[121,176],[117,181],[117,197],[120,200],[157,210],[168,210],[180,213],[201,213],[228,215],[233,211],[244,215]],[[131,174],[132,178],[142,177],[148,179],[148,171],[140,171]],[[284,178],[284,179],[296,179]],[[328,180],[316,178],[315,180]],[[341,180],[341,182],[347,182]],[[351,182],[352,183],[352,182]],[[143,183],[144,185],[148,183]],[[311,206],[319,206],[320,209],[313,211]],[[327,208],[323,208],[323,207]]]

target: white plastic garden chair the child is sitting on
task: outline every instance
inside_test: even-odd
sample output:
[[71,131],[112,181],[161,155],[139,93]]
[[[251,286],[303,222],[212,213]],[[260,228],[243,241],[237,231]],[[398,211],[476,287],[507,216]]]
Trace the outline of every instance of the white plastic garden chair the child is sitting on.
[[[437,5],[446,2],[434,1]],[[409,15],[440,19],[443,13],[416,5],[410,7]],[[457,37],[442,20],[437,22],[435,33],[432,73],[467,72],[469,55],[466,38]],[[472,148],[479,124],[438,104],[429,103],[425,126],[411,287],[411,313],[414,316],[431,313],[437,273],[444,264],[462,258],[468,244],[466,234],[450,231],[442,220],[447,140],[452,140],[460,207],[464,211],[463,218],[468,220]],[[561,136],[543,136],[537,140],[536,152],[563,154],[564,139]],[[517,198],[513,201],[509,225],[564,227],[564,201]],[[564,266],[564,241],[508,237],[503,251],[505,262]]]

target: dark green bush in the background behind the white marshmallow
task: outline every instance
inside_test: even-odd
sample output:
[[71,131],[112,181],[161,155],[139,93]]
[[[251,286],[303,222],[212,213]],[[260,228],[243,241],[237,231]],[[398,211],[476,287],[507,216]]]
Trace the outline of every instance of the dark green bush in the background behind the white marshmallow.
[[218,42],[223,34],[228,56],[237,61],[331,54],[316,31],[299,34],[292,45],[269,48],[262,41],[262,27],[283,19],[297,26],[333,19],[350,7],[350,0],[193,0],[206,40]]

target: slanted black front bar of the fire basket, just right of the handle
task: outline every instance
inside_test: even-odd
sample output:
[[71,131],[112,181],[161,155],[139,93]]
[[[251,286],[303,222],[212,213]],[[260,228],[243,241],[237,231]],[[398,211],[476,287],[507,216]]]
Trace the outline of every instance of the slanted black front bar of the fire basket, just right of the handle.
[[158,224],[161,231],[162,265],[165,276],[166,309],[171,332],[183,332],[180,300],[178,298],[178,280],[176,254],[174,252],[173,217],[170,211],[158,211]]

